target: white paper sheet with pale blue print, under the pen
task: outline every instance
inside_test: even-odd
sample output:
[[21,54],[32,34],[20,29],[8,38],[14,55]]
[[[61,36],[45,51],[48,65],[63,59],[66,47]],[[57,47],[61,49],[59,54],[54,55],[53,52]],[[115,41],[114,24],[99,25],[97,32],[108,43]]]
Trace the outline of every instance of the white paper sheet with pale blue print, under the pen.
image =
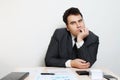
[[78,80],[70,69],[48,69],[54,75],[38,75],[35,80]]

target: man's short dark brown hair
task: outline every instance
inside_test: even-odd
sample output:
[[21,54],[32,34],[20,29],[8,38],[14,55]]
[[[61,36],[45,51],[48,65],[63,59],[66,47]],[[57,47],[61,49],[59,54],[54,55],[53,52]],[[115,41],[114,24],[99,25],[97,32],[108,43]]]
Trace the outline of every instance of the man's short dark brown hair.
[[83,15],[82,13],[79,11],[78,8],[75,8],[75,7],[71,7],[69,9],[67,9],[65,12],[64,12],[64,15],[63,15],[63,21],[65,22],[65,24],[67,25],[68,22],[67,22],[67,18],[69,15],[78,15],[80,14],[81,17],[83,18]]

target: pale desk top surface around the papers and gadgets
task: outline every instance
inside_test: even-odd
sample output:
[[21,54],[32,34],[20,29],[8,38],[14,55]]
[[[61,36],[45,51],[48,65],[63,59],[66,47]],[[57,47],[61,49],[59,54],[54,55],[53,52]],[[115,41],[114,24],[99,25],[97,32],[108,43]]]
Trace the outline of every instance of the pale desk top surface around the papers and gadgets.
[[[99,68],[100,69],[100,68]],[[15,72],[29,72],[29,76],[25,80],[39,80],[36,79],[40,73],[55,73],[55,74],[73,74],[72,77],[74,76],[75,80],[91,80],[90,76],[80,76],[78,75],[75,71],[76,70],[87,70],[89,71],[90,69],[76,69],[76,68],[58,68],[58,67],[35,67],[35,68],[17,68],[15,69]],[[107,69],[100,69],[106,74],[113,75],[120,80],[120,78],[115,75],[113,72],[107,70]],[[70,79],[72,80],[72,79]],[[106,80],[106,79],[102,79]]]

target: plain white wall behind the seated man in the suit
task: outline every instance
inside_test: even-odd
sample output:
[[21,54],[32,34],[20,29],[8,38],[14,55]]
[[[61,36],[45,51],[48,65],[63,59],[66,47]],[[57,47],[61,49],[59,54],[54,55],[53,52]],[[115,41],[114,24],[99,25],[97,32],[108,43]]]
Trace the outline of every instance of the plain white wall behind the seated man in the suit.
[[120,75],[119,0],[0,0],[0,77],[16,67],[44,66],[54,30],[65,27],[63,12],[78,7],[100,38],[94,67]]

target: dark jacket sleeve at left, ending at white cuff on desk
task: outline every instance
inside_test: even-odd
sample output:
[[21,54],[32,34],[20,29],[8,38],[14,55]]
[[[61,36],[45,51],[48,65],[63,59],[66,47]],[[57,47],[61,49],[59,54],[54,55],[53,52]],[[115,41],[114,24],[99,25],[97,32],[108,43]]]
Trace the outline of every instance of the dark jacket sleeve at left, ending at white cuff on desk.
[[59,40],[57,30],[53,34],[45,57],[46,66],[65,67],[67,59],[59,57]]

